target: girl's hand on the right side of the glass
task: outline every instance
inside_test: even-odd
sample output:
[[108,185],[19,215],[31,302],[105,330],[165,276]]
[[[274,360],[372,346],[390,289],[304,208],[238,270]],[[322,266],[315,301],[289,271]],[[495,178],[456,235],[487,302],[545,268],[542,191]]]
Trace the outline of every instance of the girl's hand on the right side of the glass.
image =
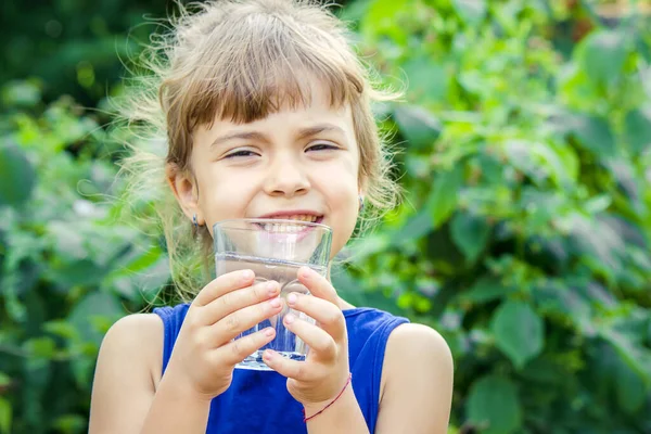
[[348,379],[346,320],[339,307],[336,291],[328,279],[302,267],[298,280],[311,295],[292,293],[286,302],[291,308],[316,319],[318,326],[293,315],[285,316],[284,326],[309,345],[307,358],[290,360],[266,349],[263,360],[288,378],[288,391],[294,399],[304,406],[321,405],[334,399]]

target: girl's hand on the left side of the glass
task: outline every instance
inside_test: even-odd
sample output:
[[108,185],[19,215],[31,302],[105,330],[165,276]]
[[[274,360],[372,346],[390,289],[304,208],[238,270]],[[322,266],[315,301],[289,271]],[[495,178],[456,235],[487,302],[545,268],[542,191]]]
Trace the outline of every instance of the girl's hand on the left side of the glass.
[[276,337],[272,328],[239,340],[238,334],[281,311],[280,285],[252,286],[251,270],[233,271],[208,283],[190,306],[177,337],[166,376],[201,398],[212,399],[231,384],[233,369]]

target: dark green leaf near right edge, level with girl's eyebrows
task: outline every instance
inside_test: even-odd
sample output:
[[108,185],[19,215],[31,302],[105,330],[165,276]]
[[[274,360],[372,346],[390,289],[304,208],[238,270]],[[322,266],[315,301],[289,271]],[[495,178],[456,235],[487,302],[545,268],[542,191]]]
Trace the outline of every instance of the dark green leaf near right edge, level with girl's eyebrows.
[[615,155],[615,139],[608,122],[588,115],[569,115],[571,131],[583,148],[597,157]]

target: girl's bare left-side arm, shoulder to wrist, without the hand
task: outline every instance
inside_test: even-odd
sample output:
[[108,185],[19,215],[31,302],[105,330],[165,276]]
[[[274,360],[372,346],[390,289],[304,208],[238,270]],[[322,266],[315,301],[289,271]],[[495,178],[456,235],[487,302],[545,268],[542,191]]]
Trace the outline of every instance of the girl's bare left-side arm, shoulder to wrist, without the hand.
[[205,433],[209,400],[192,399],[161,375],[163,322],[131,315],[106,333],[95,369],[89,434]]

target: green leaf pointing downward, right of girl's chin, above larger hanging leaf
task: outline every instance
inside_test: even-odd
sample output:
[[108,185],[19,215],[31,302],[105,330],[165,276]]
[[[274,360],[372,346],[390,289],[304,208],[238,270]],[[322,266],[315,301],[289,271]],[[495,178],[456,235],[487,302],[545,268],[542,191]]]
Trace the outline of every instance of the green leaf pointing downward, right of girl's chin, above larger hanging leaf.
[[465,259],[473,264],[486,248],[490,226],[486,219],[470,213],[457,213],[450,222],[455,244],[463,252]]

